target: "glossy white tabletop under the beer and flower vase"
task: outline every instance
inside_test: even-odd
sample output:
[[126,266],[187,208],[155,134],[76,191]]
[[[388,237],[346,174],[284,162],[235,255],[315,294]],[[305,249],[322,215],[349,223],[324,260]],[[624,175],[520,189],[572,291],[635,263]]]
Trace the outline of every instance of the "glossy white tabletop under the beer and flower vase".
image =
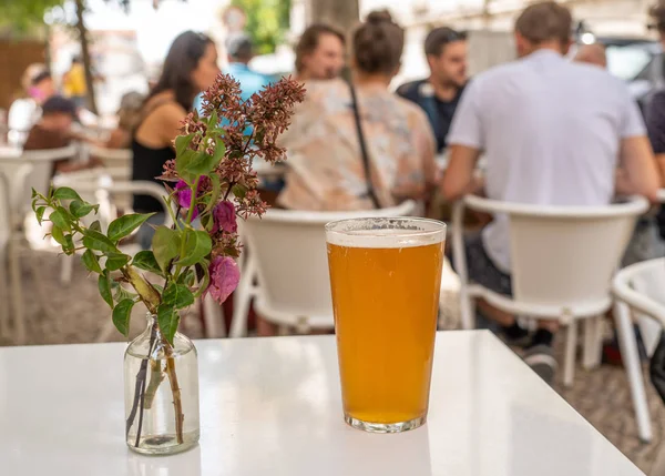
[[124,444],[124,344],[1,348],[1,473],[643,474],[488,332],[437,335],[429,423],[399,435],[342,422],[332,336],[196,345],[201,445],[170,457]]

